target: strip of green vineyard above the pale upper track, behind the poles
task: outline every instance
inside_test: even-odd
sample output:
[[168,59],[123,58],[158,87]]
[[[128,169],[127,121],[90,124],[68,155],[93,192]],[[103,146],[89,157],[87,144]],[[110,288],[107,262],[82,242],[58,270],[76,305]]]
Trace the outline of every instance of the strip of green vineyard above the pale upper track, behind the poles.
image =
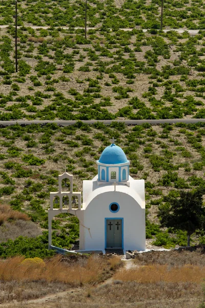
[[[160,0],[107,0],[88,1],[90,27],[160,28]],[[204,29],[204,3],[202,0],[168,0],[164,4],[163,24],[172,28]],[[18,24],[20,26],[84,27],[84,1],[19,1]],[[1,24],[13,23],[14,3],[1,3]]]

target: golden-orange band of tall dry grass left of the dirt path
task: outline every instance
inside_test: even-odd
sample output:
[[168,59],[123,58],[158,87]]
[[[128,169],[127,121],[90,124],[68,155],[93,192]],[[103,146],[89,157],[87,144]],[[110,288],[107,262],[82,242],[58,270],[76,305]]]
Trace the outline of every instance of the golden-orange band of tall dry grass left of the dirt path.
[[0,280],[2,281],[58,281],[80,286],[85,283],[96,284],[105,279],[110,269],[119,264],[119,258],[113,260],[97,256],[78,259],[75,262],[62,262],[61,256],[55,256],[44,263],[23,262],[24,257],[8,258],[0,261]]

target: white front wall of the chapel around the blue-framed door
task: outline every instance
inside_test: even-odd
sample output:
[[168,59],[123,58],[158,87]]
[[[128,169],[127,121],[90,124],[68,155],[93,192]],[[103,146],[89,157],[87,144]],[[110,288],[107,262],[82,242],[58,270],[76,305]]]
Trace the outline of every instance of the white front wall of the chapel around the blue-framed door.
[[[113,186],[103,187],[103,191],[102,187],[99,191],[97,190],[95,189],[95,191],[89,194],[89,202],[87,206],[84,205],[85,227],[83,230],[81,229],[81,233],[83,231],[83,234],[80,235],[80,241],[84,238],[84,245],[80,245],[80,249],[105,249],[105,218],[123,218],[124,230],[122,236],[124,249],[145,250],[144,200],[141,200],[139,195],[127,186],[120,186],[120,189],[118,189],[120,191],[114,191]],[[130,194],[128,194],[129,190]],[[109,209],[109,205],[112,202],[119,204],[120,209],[117,213],[112,213]]]

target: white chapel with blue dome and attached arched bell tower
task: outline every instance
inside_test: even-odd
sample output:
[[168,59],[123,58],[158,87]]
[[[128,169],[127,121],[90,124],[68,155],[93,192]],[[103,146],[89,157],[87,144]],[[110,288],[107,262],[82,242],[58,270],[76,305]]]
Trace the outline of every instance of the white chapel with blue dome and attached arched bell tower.
[[[112,144],[104,149],[98,161],[98,175],[83,181],[81,193],[73,192],[72,176],[65,172],[59,176],[59,191],[51,192],[49,209],[49,245],[51,245],[51,220],[59,213],[71,213],[79,218],[79,251],[103,251],[121,248],[124,251],[146,249],[145,181],[134,180],[129,175],[130,161],[124,151]],[[71,188],[63,192],[61,181],[69,178]],[[53,200],[60,199],[59,209]],[[69,198],[69,208],[63,207],[63,197]],[[78,198],[78,208],[73,208],[72,196]]]

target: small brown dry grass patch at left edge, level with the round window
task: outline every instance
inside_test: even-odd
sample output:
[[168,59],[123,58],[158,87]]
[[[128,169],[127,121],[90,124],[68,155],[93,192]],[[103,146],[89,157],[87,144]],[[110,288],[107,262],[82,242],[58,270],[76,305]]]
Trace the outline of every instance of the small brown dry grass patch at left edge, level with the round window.
[[17,210],[11,209],[9,205],[1,205],[0,206],[0,225],[2,225],[7,220],[30,220],[27,214],[21,213]]

